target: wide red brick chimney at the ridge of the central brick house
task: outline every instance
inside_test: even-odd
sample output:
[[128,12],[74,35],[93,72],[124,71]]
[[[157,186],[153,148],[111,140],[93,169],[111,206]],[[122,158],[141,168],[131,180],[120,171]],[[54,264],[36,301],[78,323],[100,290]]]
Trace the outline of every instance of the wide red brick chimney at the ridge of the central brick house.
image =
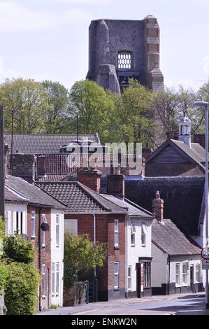
[[100,184],[101,184],[101,175],[102,173],[99,170],[91,169],[80,169],[78,172],[78,181],[87,188],[91,188],[96,193],[99,193]]

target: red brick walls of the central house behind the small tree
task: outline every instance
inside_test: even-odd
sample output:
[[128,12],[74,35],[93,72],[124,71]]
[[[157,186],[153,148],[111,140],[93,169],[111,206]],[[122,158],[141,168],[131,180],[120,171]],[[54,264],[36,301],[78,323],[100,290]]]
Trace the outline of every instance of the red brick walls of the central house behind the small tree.
[[[91,214],[65,215],[65,219],[78,220],[78,235],[89,234],[94,241],[94,216]],[[120,249],[115,250],[115,219],[119,220]],[[96,269],[99,275],[99,291],[114,290],[115,262],[120,262],[120,288],[125,288],[125,223],[124,215],[96,214],[96,241],[108,242],[108,258],[102,269]]]

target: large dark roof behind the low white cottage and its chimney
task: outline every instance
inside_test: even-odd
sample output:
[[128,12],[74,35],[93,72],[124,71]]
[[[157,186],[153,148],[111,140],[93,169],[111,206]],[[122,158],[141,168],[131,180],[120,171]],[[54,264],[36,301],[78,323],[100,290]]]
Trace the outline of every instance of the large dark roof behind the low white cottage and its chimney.
[[204,177],[146,177],[125,181],[125,196],[152,212],[152,200],[159,190],[164,200],[164,218],[171,218],[182,232],[199,235]]

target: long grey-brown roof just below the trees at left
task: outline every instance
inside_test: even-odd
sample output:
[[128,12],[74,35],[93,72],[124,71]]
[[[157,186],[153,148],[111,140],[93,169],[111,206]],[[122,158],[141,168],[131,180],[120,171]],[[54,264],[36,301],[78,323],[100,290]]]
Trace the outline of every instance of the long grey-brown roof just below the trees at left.
[[[11,134],[5,134],[6,144],[11,145]],[[60,147],[77,139],[77,134],[13,134],[13,153],[24,154],[59,153]],[[97,134],[79,134],[80,141],[94,141]]]

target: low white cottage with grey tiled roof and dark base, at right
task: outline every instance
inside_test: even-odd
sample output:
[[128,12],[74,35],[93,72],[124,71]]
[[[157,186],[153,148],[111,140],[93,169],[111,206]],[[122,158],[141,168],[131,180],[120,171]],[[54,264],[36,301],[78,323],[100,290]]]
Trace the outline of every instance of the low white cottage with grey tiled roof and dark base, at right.
[[168,220],[152,223],[152,295],[203,291],[200,249]]

